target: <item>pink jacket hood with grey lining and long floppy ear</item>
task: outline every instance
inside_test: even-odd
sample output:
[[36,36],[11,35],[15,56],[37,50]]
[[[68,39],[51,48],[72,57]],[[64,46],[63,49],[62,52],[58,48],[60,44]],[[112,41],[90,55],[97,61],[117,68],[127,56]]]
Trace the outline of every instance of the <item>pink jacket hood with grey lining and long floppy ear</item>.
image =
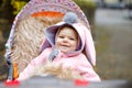
[[72,56],[72,55],[77,55],[81,52],[85,52],[86,57],[88,58],[90,64],[95,66],[96,65],[96,51],[95,51],[95,44],[91,37],[90,30],[79,22],[67,23],[65,21],[62,21],[55,25],[47,28],[45,30],[46,40],[42,44],[41,50],[45,50],[46,47],[50,47],[50,46],[55,47],[56,33],[59,30],[59,28],[64,25],[70,25],[72,28],[74,28],[76,32],[78,33],[78,37],[80,40],[79,45],[77,47],[78,50],[67,55]]

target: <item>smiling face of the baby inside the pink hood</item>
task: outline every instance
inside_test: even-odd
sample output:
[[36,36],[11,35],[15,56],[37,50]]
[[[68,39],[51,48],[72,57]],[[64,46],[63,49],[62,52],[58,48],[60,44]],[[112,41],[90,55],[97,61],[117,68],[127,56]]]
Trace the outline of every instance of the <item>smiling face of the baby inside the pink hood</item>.
[[75,51],[78,45],[78,34],[72,28],[63,28],[56,36],[55,45],[61,52]]

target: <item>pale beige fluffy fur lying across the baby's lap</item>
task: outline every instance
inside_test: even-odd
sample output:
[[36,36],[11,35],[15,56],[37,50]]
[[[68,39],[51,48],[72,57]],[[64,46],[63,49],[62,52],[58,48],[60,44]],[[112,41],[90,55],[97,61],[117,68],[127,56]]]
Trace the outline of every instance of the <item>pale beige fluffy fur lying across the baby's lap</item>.
[[47,62],[45,66],[38,66],[34,68],[32,76],[46,76],[53,75],[61,79],[82,79],[78,72],[70,68],[63,68],[63,65],[54,66],[51,62]]

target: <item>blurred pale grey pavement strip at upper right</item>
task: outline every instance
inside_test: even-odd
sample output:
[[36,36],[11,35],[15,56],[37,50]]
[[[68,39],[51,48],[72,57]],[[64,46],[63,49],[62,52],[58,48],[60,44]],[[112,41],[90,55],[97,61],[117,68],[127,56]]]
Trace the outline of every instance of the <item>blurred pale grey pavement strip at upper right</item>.
[[97,9],[96,23],[99,25],[131,25],[132,20],[129,19],[128,10]]

